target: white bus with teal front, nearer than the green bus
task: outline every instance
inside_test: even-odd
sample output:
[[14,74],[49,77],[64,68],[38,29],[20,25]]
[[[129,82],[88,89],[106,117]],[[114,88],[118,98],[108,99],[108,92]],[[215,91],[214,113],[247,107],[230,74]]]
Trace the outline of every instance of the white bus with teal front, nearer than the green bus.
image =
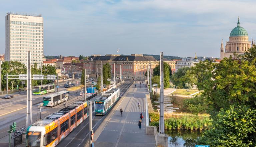
[[43,106],[55,106],[68,100],[69,91],[63,90],[43,97]]

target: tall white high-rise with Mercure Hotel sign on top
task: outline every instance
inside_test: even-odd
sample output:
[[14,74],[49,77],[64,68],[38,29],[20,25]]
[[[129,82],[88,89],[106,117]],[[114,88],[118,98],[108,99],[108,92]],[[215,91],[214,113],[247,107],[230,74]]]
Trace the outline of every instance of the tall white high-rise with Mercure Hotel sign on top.
[[27,64],[30,51],[31,64],[38,68],[43,62],[43,17],[41,15],[19,15],[7,13],[5,16],[5,60]]

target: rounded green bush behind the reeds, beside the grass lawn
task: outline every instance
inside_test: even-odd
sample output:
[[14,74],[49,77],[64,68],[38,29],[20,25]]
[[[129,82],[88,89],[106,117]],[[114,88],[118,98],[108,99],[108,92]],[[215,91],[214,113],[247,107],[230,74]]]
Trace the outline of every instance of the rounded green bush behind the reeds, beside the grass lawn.
[[184,108],[192,113],[203,113],[207,108],[207,103],[202,95],[184,99]]

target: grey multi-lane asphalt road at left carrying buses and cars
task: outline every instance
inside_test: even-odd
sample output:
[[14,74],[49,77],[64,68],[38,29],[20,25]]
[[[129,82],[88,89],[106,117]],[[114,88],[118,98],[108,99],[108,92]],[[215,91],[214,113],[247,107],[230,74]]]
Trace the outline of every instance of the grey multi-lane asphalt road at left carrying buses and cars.
[[[76,82],[74,83],[75,85],[77,85]],[[86,84],[87,86],[90,86],[91,82]],[[80,82],[78,83],[78,85],[80,85]],[[58,88],[59,91],[66,89],[67,88],[64,88],[63,84],[60,84]],[[70,104],[74,101],[81,99],[81,96],[79,96],[79,94],[80,90],[70,91],[69,100],[67,101],[67,104]],[[39,110],[37,104],[42,102],[42,97],[45,95],[47,94],[32,96],[33,122],[39,119]],[[59,104],[54,107],[43,108],[41,110],[42,117],[64,108],[64,104],[65,103]],[[17,122],[17,129],[26,126],[26,91],[21,93],[15,93],[15,96],[12,99],[0,98],[0,120],[0,146],[4,146],[4,144],[9,141],[7,133],[9,125],[11,125],[13,122]]]

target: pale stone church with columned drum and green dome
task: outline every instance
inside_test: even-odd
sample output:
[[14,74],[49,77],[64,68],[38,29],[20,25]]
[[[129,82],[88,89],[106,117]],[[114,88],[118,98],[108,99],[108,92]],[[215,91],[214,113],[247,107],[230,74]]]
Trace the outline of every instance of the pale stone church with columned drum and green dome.
[[240,26],[238,19],[237,27],[230,32],[229,41],[226,42],[225,49],[223,40],[221,41],[220,59],[222,60],[223,58],[229,58],[230,56],[233,56],[234,53],[243,55],[245,51],[251,48],[251,42],[248,40],[248,33],[243,27]]

